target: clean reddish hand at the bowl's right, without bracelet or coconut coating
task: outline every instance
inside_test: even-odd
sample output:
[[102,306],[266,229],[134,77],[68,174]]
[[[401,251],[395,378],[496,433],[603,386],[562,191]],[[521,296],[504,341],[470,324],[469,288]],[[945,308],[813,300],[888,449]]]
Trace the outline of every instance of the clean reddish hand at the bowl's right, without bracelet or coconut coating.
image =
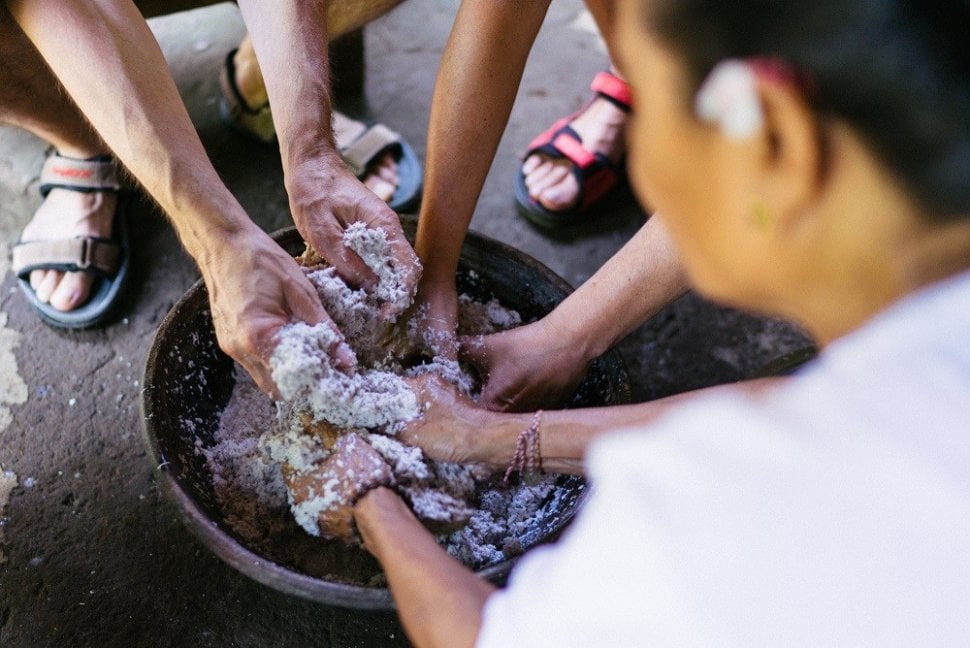
[[478,404],[497,411],[558,407],[589,367],[582,346],[549,331],[544,320],[460,342],[462,360],[484,377]]

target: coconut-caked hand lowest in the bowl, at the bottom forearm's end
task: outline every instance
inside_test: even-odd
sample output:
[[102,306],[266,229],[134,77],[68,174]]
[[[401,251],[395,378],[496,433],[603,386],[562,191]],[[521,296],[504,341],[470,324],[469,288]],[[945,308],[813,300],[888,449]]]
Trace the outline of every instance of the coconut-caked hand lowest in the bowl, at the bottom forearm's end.
[[[342,435],[331,454],[310,470],[284,470],[284,478],[294,505],[317,513],[320,535],[351,544],[358,540],[354,526],[354,505],[367,492],[394,482],[391,467],[360,435]],[[325,497],[320,508],[316,498]]]

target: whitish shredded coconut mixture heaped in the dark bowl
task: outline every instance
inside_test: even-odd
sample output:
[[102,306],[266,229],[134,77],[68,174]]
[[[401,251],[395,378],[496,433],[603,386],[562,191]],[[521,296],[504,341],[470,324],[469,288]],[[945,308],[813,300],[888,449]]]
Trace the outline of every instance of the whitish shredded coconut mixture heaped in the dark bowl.
[[[539,487],[486,483],[489,475],[480,468],[435,462],[395,438],[421,414],[405,377],[435,373],[473,397],[478,384],[454,360],[405,364],[426,345],[413,319],[395,327],[385,316],[403,312],[413,299],[386,233],[357,223],[346,230],[344,244],[377,275],[376,288],[353,289],[319,257],[305,254],[315,261],[302,259],[304,271],[336,327],[302,322],[283,327],[270,358],[283,400],[273,404],[237,370],[215,443],[197,444],[227,521],[241,537],[264,545],[293,543],[287,529],[294,524],[309,536],[323,531],[329,537],[334,528],[348,530],[352,521],[341,518],[341,511],[361,491],[385,484],[469,566],[515,555],[521,551],[517,536],[547,501],[554,479]],[[495,299],[459,296],[461,334],[494,333],[521,321]],[[333,361],[335,348],[344,342],[357,358],[352,373]],[[344,454],[348,449],[356,452],[353,458]]]

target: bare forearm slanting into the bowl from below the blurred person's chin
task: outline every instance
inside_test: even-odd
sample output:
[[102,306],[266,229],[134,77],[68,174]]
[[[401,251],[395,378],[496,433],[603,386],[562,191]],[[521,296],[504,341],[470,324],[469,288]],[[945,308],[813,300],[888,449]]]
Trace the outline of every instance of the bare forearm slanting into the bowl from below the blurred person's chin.
[[591,361],[686,290],[679,254],[662,219],[653,216],[545,325]]

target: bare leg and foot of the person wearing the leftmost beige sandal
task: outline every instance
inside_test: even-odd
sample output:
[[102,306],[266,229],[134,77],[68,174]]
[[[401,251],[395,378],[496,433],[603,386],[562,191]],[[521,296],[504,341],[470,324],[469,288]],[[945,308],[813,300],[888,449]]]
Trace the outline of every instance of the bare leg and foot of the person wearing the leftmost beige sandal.
[[[0,88],[0,121],[32,132],[66,157],[84,159],[108,153],[3,4]],[[112,192],[53,189],[24,228],[21,240],[109,237],[117,201]],[[83,304],[91,283],[91,276],[80,272],[35,270],[30,275],[37,297],[62,311]]]

